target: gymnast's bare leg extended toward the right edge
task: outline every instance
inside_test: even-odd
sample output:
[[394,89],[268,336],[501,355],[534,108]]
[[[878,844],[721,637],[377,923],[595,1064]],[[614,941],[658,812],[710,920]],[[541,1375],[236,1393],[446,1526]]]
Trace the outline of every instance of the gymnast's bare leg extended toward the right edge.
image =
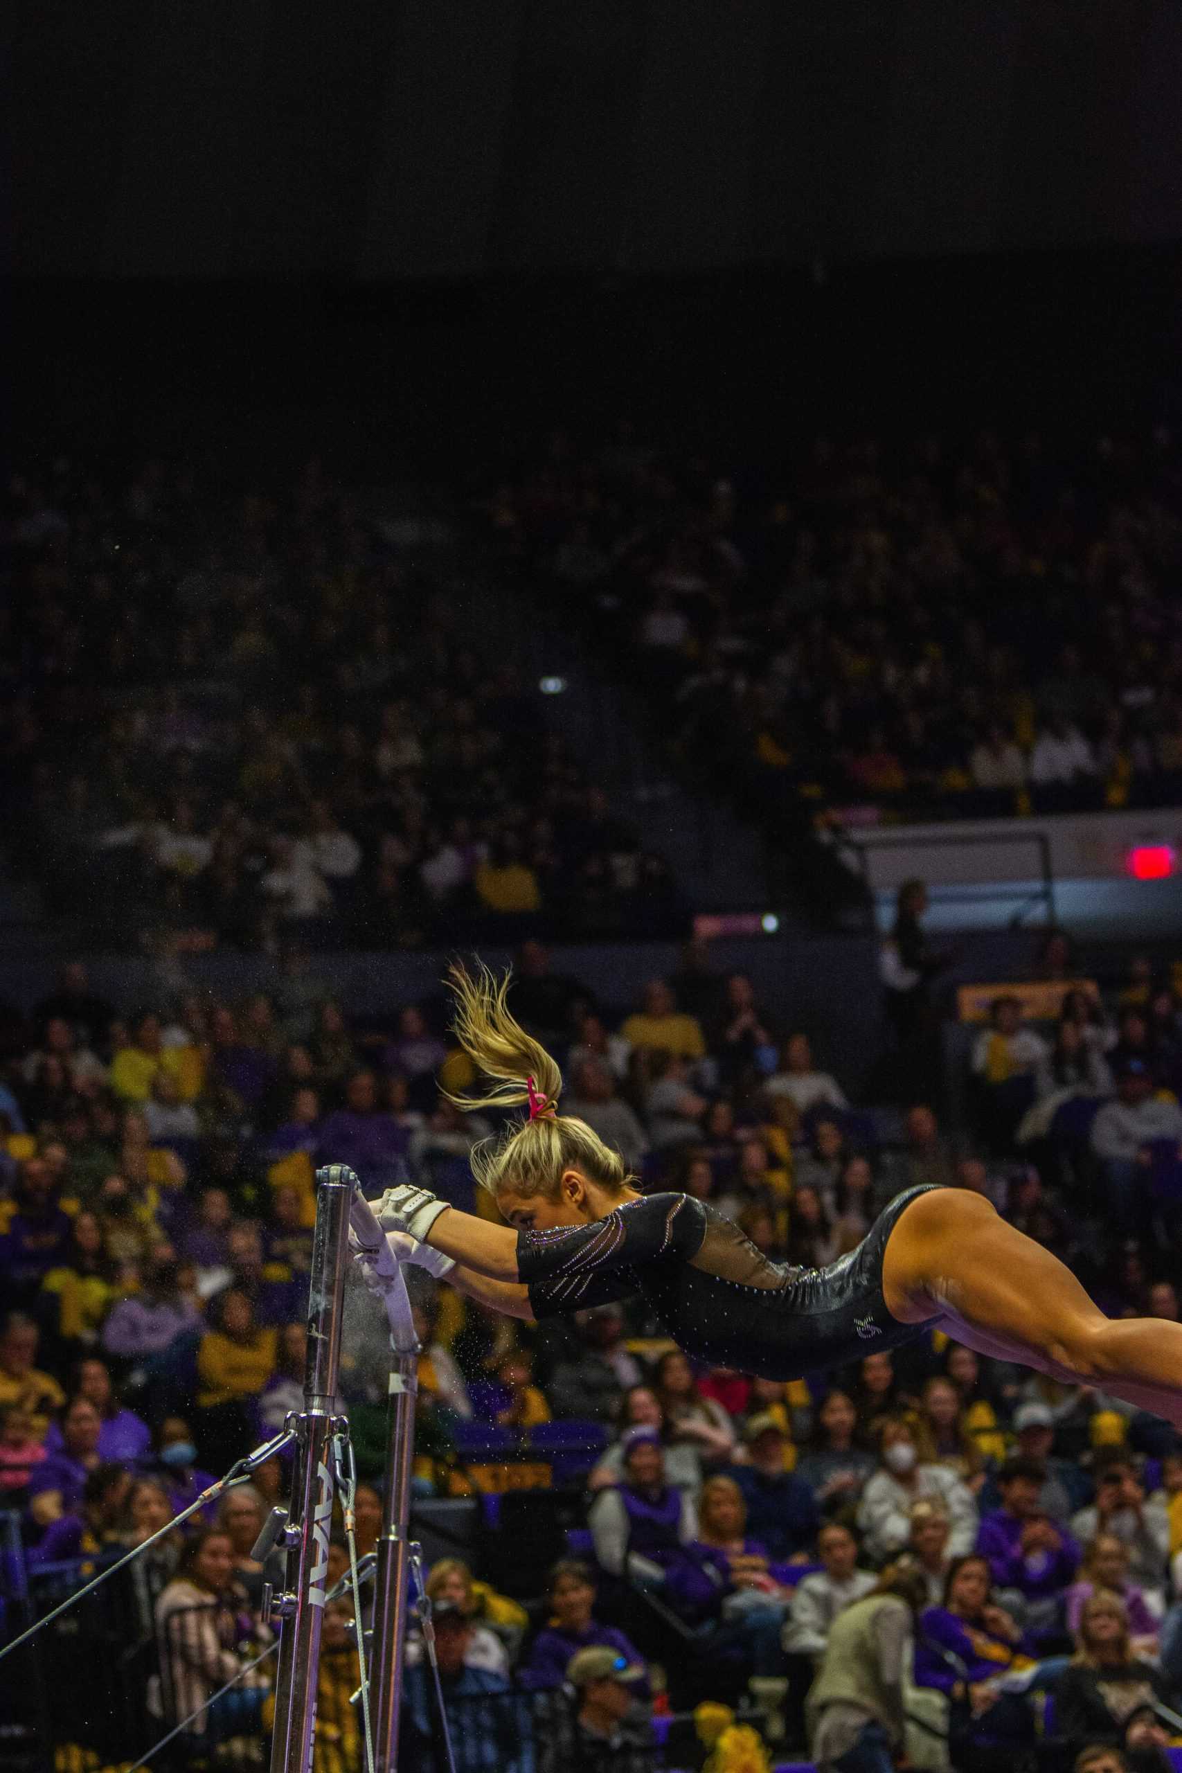
[[980,1195],[918,1195],[888,1238],[883,1293],[902,1323],[939,1312],[941,1328],[982,1355],[1095,1385],[1182,1429],[1182,1324],[1106,1317],[1058,1257]]

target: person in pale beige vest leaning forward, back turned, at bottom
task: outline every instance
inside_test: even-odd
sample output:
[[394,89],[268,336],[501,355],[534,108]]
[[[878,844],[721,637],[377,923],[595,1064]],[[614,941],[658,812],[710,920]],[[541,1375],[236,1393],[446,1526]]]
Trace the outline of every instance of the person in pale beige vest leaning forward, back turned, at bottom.
[[810,1746],[820,1773],[891,1773],[904,1739],[904,1677],[921,1606],[921,1576],[891,1564],[833,1621],[808,1693]]

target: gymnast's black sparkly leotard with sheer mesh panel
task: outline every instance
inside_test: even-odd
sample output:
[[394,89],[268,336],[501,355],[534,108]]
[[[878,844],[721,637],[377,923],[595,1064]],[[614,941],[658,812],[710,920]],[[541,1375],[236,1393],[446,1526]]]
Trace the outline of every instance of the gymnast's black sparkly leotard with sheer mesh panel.
[[904,1207],[932,1186],[897,1195],[858,1248],[828,1268],[773,1262],[714,1207],[663,1193],[588,1225],[517,1232],[517,1273],[535,1317],[640,1293],[688,1355],[797,1379],[923,1332],[888,1312],[883,1254]]

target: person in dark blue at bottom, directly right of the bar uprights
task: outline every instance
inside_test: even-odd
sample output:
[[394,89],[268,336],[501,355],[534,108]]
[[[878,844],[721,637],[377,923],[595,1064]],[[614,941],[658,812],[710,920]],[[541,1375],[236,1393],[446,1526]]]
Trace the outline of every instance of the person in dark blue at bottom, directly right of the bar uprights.
[[[454,1601],[439,1601],[434,1608],[434,1633],[443,1706],[457,1766],[471,1773],[530,1773],[533,1752],[525,1704],[510,1697],[505,1675],[468,1663],[471,1624]],[[466,1704],[466,1700],[486,1702]],[[434,1695],[420,1663],[406,1670],[402,1706],[402,1745],[409,1750],[411,1768],[425,1773],[434,1766],[436,1739]]]

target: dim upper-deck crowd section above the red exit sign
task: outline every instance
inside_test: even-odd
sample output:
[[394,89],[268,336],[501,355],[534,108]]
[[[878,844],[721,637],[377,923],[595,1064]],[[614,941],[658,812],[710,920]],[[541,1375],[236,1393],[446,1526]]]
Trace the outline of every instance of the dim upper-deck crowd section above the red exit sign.
[[817,438],[773,466],[626,426],[553,434],[480,514],[698,787],[950,817],[1177,801],[1180,493],[1166,429]]

